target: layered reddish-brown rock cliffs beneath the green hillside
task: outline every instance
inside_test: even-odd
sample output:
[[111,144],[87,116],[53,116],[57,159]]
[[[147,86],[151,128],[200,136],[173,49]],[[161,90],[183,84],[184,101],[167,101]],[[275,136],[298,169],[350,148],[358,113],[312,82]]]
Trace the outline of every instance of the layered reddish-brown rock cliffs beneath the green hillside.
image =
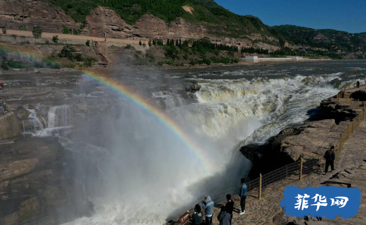
[[[225,30],[221,25],[209,23],[192,23],[177,18],[171,23],[152,16],[144,15],[133,25],[128,25],[112,9],[97,7],[86,18],[87,27],[81,35],[122,39],[200,39],[208,37],[213,43],[235,45],[238,47],[258,47],[278,50],[279,45],[269,44],[268,40],[278,42],[273,37],[259,33],[249,33],[243,38],[218,36]],[[79,29],[80,24],[66,15],[62,9],[42,1],[31,0],[0,0],[0,27],[19,29],[25,26],[31,30],[34,25],[42,27],[44,32],[61,33],[62,25],[71,29]],[[229,36],[229,35],[228,35]]]

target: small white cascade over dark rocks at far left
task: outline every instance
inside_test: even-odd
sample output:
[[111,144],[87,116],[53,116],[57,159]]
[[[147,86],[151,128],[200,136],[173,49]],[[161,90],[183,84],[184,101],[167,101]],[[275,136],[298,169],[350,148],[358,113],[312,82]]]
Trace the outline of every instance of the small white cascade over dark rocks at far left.
[[70,107],[68,105],[51,107],[45,117],[37,115],[37,111],[41,111],[39,106],[35,109],[29,109],[25,106],[25,109],[30,112],[27,122],[23,121],[23,130],[26,134],[41,137],[59,135],[61,130],[71,127]]

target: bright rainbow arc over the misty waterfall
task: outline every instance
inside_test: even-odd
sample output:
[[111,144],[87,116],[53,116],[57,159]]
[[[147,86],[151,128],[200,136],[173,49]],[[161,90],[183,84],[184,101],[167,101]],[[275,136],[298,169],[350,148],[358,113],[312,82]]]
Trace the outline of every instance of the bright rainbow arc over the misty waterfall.
[[166,113],[162,112],[152,104],[150,104],[147,100],[139,96],[138,94],[129,90],[125,85],[122,85],[112,79],[108,79],[103,77],[102,75],[98,75],[96,73],[84,72],[83,76],[91,78],[101,84],[104,84],[114,91],[117,91],[123,97],[126,97],[135,105],[144,109],[146,112],[149,112],[158,121],[163,124],[166,128],[172,131],[172,133],[183,142],[183,144],[187,147],[187,150],[191,151],[201,162],[203,162],[203,166],[207,172],[213,172],[214,167],[210,162],[210,157],[207,153],[201,149],[189,136],[185,134],[182,128],[175,122],[172,118],[170,118]]

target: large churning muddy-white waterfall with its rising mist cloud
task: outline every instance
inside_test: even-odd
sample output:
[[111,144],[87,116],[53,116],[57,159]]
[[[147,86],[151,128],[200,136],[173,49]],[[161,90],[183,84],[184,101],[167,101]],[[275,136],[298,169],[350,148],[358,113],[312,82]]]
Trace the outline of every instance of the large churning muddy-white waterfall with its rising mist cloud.
[[[161,225],[203,195],[237,185],[250,168],[239,146],[265,141],[285,125],[304,121],[308,109],[336,94],[331,82],[339,75],[193,79],[202,87],[190,104],[168,91],[152,93],[190,141],[150,112],[116,99],[112,112],[83,123],[90,133],[80,139],[88,144],[73,151],[91,159],[81,168],[96,168],[78,174],[94,213],[67,225]],[[204,156],[189,150],[190,142]]]

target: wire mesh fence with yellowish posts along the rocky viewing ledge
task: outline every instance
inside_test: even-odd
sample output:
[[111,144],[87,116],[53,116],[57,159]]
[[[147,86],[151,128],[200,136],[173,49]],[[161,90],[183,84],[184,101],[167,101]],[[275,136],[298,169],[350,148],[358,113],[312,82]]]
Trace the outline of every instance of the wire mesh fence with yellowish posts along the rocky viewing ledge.
[[[361,85],[360,85],[361,86]],[[366,82],[363,86],[366,86]],[[340,101],[340,98],[344,97],[344,92],[340,91],[336,99],[337,101]],[[347,101],[347,99],[346,99]],[[354,101],[354,99],[349,99],[350,106],[356,106],[358,109],[362,109],[362,111],[353,118],[352,121],[350,121],[346,128],[343,131],[340,131],[340,135],[338,138],[338,141],[336,142],[335,147],[335,154],[336,154],[336,160],[338,159],[339,152],[342,150],[342,146],[345,141],[348,140],[350,134],[353,133],[354,128],[358,125],[360,125],[361,121],[365,120],[366,118],[366,103],[360,102],[359,100]],[[347,101],[347,104],[348,104]],[[361,103],[361,104],[360,104]],[[304,159],[301,158],[299,161],[291,163],[289,165],[286,165],[284,167],[281,167],[279,169],[275,169],[274,171],[271,171],[269,173],[266,173],[264,175],[259,174],[259,177],[251,180],[246,183],[247,186],[247,196],[254,197],[255,199],[262,199],[262,195],[264,194],[264,191],[266,188],[270,187],[271,184],[274,184],[275,182],[284,180],[287,177],[298,175],[299,180],[302,181],[305,175],[312,174],[314,171],[316,171],[319,167],[319,161],[323,160],[322,157],[319,157],[317,159]],[[336,164],[335,160],[335,164]],[[219,213],[219,208],[221,205],[226,204],[226,195],[230,194],[232,196],[232,199],[234,199],[234,207],[240,208],[240,198],[239,198],[239,192],[242,185],[227,189],[225,191],[222,191],[220,193],[217,193],[216,195],[212,196],[212,200],[214,201],[214,212],[213,212],[213,218],[215,218]],[[200,204],[200,203],[199,203]],[[190,215],[193,214],[194,210],[193,208],[187,210]],[[190,222],[182,223],[181,221],[175,220],[171,223],[167,223],[165,225],[184,225],[189,224]]]

